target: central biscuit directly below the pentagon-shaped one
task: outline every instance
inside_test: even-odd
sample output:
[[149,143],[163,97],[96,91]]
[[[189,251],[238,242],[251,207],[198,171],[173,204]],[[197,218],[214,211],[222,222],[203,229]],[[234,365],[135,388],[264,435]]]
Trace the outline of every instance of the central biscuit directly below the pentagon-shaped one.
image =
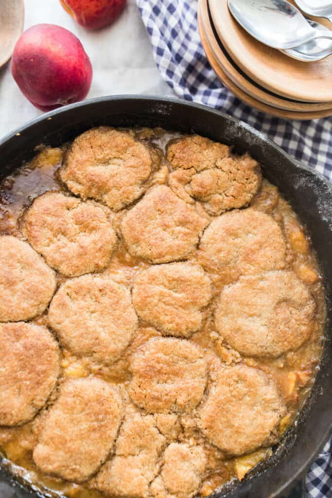
[[134,280],[132,302],[138,316],[166,335],[189,337],[202,325],[202,308],[212,297],[204,270],[190,263],[151,266]]

